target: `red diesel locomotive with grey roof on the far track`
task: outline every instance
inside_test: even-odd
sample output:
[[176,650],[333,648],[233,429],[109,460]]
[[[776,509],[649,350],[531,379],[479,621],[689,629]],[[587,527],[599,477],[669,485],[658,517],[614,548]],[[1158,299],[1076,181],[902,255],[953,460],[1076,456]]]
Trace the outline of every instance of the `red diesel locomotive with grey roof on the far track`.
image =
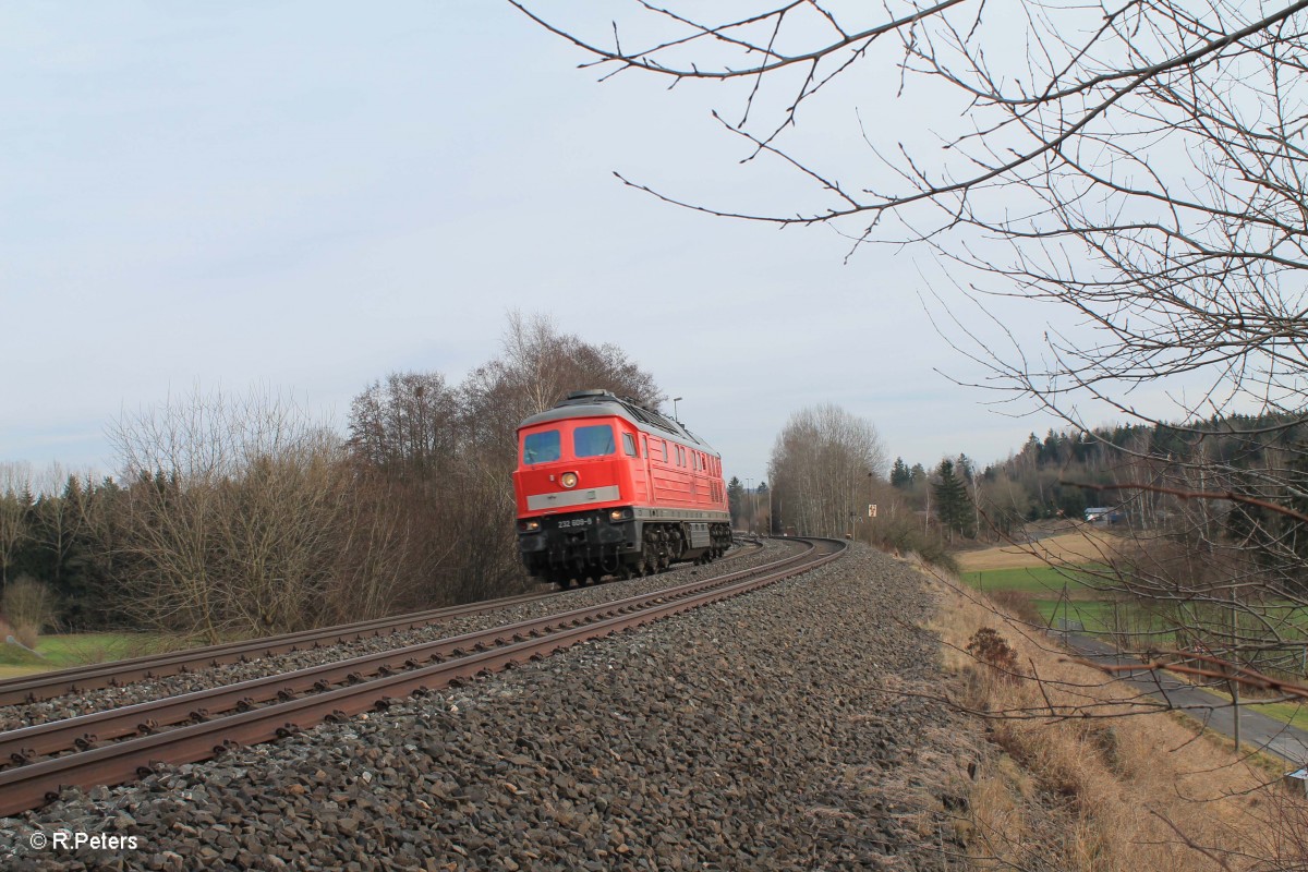
[[518,428],[518,550],[559,584],[709,561],[731,544],[721,456],[680,422],[578,391]]

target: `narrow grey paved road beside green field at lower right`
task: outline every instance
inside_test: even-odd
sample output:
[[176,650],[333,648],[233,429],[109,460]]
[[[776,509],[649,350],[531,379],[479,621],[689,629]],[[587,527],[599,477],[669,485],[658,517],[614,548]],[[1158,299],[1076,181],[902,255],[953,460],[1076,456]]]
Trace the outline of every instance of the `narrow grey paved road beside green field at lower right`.
[[[1054,635],[1088,660],[1114,664],[1138,663],[1134,658],[1118,655],[1116,648],[1099,639],[1075,633],[1056,633]],[[1211,729],[1227,736],[1235,735],[1235,711],[1231,703],[1167,673],[1139,669],[1129,676],[1130,682],[1141,692],[1158,699],[1165,699],[1172,707],[1198,718]],[[1245,706],[1240,707],[1240,743],[1245,748],[1254,745],[1278,754],[1295,766],[1308,763],[1308,731],[1291,727]]]

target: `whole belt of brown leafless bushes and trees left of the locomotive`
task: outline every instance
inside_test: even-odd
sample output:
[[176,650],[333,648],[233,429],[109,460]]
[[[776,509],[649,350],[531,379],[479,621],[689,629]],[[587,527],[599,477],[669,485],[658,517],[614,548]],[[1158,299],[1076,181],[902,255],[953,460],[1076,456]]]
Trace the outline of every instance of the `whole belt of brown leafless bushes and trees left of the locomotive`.
[[283,394],[170,397],[114,424],[116,478],[0,464],[0,588],[30,574],[64,626],[207,642],[521,591],[515,429],[581,388],[659,399],[616,346],[517,314],[463,384],[365,387],[348,438]]

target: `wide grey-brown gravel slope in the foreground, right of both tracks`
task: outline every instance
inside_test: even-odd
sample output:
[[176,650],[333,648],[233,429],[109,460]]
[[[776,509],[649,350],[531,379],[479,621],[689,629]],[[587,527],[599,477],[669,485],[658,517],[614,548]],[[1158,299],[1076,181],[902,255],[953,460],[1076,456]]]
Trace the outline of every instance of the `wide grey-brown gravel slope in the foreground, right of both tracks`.
[[[0,821],[7,869],[942,869],[973,753],[866,548],[460,689]],[[34,833],[135,848],[34,850]],[[13,855],[5,856],[9,851]]]

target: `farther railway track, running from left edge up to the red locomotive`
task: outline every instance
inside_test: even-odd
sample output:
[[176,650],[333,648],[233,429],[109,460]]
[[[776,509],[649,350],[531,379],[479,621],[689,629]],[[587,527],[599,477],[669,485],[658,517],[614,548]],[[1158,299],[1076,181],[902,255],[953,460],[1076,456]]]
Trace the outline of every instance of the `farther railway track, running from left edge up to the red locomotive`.
[[[755,543],[756,544],[756,543]],[[736,550],[723,560],[740,554]],[[195,669],[216,668],[232,663],[249,663],[259,658],[293,654],[314,648],[358,642],[369,638],[407,633],[455,618],[485,614],[500,609],[535,603],[557,596],[564,591],[544,591],[523,594],[467,605],[454,605],[424,612],[411,612],[386,618],[340,624],[336,626],[302,630],[283,635],[269,635],[259,639],[226,642],[201,648],[187,648],[169,654],[152,654],[127,660],[95,663],[72,669],[59,669],[35,676],[0,680],[0,706],[24,705],[52,699],[71,693],[81,693],[98,688],[120,688],[133,681],[148,681],[174,675],[184,675]]]

